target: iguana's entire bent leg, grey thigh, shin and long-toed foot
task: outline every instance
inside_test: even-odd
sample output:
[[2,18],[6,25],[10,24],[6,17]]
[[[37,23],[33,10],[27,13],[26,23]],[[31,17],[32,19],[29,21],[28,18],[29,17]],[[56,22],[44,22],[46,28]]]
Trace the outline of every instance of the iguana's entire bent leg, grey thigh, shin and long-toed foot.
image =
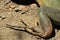
[[[57,14],[58,12],[58,14]],[[56,10],[54,8],[50,8],[50,7],[40,7],[39,12],[38,12],[38,16],[39,16],[39,27],[37,28],[24,28],[26,31],[28,31],[31,34],[34,34],[36,36],[40,36],[43,38],[47,38],[52,34],[52,23],[51,20],[56,21],[58,24],[60,24],[60,17],[59,17],[60,11]],[[55,23],[56,23],[55,22]],[[23,29],[19,29],[19,27],[9,27],[12,29],[18,29],[18,30],[23,30]],[[21,27],[22,28],[22,27]],[[36,32],[34,32],[33,30],[35,30]]]

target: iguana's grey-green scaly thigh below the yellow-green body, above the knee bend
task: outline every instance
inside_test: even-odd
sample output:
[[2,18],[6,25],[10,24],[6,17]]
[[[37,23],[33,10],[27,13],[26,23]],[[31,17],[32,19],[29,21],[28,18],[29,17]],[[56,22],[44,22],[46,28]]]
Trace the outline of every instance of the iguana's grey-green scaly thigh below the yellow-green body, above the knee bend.
[[45,11],[45,14],[51,19],[54,24],[60,25],[60,10],[43,6],[40,9]]

